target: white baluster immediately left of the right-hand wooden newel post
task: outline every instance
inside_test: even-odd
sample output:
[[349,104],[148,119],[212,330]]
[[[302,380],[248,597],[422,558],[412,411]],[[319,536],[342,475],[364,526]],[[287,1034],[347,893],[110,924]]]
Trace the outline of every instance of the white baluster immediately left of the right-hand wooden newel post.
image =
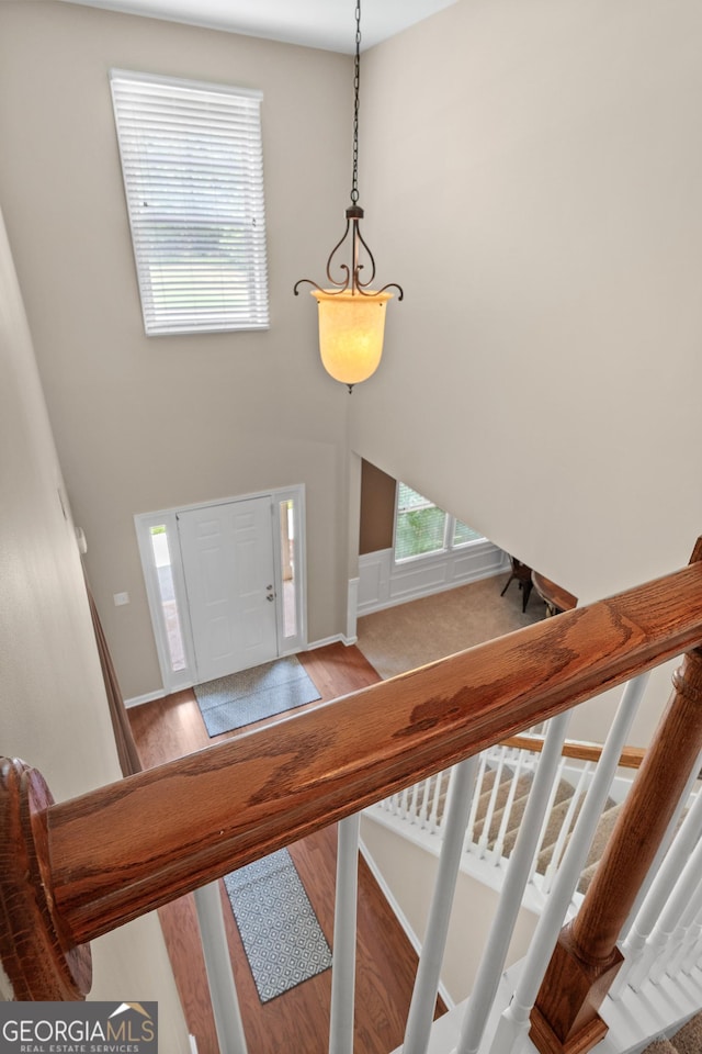
[[551,896],[536,926],[531,946],[512,1001],[503,1011],[492,1040],[490,1054],[512,1054],[519,1050],[529,1030],[529,1014],[536,1001],[539,988],[556,946],[597,825],[602,815],[609,789],[616,772],[620,754],[626,743],[636,708],[641,702],[648,675],[630,681],[618,707],[600,763],[590,784],[573,837],[556,875]]

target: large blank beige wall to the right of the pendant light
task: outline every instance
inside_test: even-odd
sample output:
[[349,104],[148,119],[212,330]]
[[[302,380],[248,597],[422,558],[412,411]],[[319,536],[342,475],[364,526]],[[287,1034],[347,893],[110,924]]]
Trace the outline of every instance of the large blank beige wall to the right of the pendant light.
[[354,450],[581,601],[702,529],[698,0],[460,0],[364,58]]

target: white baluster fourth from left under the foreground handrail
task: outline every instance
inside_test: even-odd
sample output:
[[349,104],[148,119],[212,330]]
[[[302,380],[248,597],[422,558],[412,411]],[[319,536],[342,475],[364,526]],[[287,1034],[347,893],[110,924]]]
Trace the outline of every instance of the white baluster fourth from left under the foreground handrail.
[[507,952],[521,908],[524,888],[529,881],[530,865],[536,851],[541,821],[548,805],[551,787],[558,771],[561,751],[569,720],[570,714],[566,713],[554,717],[550,721],[548,733],[529,795],[526,809],[507,865],[505,885],[500,894],[497,912],[490,927],[473,994],[463,1019],[461,1039],[456,1049],[457,1054],[477,1054],[479,1050],[505,968]]

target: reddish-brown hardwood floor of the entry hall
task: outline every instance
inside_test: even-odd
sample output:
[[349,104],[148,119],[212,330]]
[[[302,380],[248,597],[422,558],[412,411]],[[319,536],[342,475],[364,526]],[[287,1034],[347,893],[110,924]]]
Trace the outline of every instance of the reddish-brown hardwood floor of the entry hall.
[[[338,698],[378,681],[356,648],[330,644],[298,659],[321,695]],[[309,704],[315,706],[316,704]],[[129,710],[137,749],[145,767],[211,745],[191,691]],[[275,720],[275,719],[273,719]],[[319,923],[332,944],[336,878],[336,828],[290,846]],[[292,991],[261,1003],[220,882],[227,939],[249,1054],[325,1054],[328,1044],[331,972],[313,977]],[[204,963],[191,896],[159,910],[186,1021],[199,1054],[218,1054]],[[387,901],[361,859],[359,866],[356,963],[356,1054],[388,1054],[403,1041],[417,956]],[[439,1007],[439,1012],[444,1008]]]

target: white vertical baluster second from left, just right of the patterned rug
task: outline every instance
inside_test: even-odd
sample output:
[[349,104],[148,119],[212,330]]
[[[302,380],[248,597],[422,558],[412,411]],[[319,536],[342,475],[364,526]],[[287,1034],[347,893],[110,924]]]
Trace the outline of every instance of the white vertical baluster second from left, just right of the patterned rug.
[[329,1054],[353,1054],[360,829],[358,812],[341,820],[338,827]]

